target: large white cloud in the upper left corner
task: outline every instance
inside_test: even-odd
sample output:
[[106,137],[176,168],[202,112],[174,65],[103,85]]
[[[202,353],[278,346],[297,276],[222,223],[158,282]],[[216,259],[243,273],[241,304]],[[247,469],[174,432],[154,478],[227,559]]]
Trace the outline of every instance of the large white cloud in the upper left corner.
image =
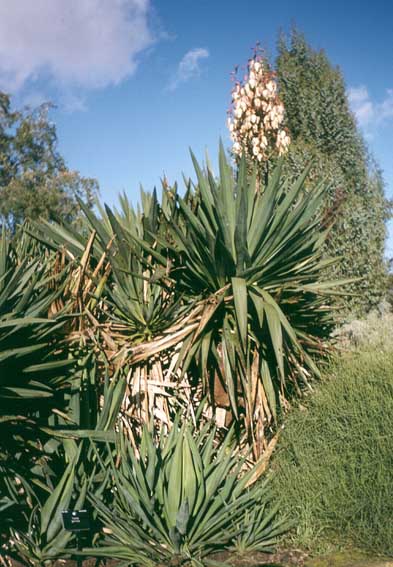
[[149,0],[1,1],[0,89],[17,93],[39,79],[68,93],[120,83],[154,41],[149,11]]

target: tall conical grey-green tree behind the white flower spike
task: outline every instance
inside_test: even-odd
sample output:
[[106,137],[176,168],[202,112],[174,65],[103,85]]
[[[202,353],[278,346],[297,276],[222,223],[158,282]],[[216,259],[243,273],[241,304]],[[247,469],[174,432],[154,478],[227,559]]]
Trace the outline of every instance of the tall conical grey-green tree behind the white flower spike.
[[355,295],[346,307],[365,312],[386,290],[389,203],[382,174],[349,108],[341,71],[323,51],[313,50],[295,29],[289,41],[279,39],[276,70],[292,139],[287,175],[296,178],[312,160],[311,178],[328,180],[326,223],[335,224],[326,248],[342,256],[332,276],[361,278],[349,286]]

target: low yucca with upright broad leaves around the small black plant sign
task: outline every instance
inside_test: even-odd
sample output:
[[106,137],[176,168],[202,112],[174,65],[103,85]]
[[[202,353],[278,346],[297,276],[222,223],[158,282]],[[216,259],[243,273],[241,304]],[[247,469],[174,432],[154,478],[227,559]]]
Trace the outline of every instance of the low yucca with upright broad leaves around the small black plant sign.
[[[93,373],[97,369],[92,365],[87,368]],[[88,506],[87,491],[96,497],[108,491],[109,475],[105,467],[101,468],[101,463],[106,459],[108,464],[109,456],[97,451],[91,440],[114,441],[126,383],[120,371],[111,378],[108,371],[103,374],[102,407],[95,408],[94,426],[93,412],[88,410],[86,400],[72,399],[70,406],[74,411],[70,408],[66,419],[57,426],[43,428],[49,436],[44,446],[46,452],[41,461],[35,463],[28,482],[19,484],[24,491],[19,498],[28,500],[28,509],[24,511],[26,521],[7,526],[10,537],[5,552],[26,565],[50,565],[60,557],[72,555],[75,537],[63,529],[61,512]],[[80,390],[78,388],[78,394],[83,397]],[[79,411],[75,411],[78,402]],[[84,411],[87,415],[79,415]],[[92,516],[94,519],[94,514]],[[88,534],[90,540],[94,537],[93,527],[94,523]]]

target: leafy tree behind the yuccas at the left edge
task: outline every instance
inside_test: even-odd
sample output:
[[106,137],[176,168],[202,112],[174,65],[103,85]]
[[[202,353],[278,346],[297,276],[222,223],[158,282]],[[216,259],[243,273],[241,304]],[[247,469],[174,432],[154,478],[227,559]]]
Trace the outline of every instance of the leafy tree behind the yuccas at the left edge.
[[98,191],[95,179],[67,168],[57,147],[49,104],[13,110],[0,92],[0,225],[15,231],[26,218],[79,215],[77,197],[89,206]]

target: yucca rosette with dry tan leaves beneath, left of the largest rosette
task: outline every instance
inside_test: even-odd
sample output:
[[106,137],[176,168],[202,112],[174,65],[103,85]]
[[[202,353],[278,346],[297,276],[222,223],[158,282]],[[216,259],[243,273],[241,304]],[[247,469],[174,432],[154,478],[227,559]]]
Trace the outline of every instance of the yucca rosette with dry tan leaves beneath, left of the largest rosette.
[[[98,207],[100,216],[81,204],[84,234],[55,223],[36,223],[32,231],[50,248],[79,262],[89,275],[88,286],[80,290],[81,312],[87,326],[97,330],[98,344],[113,365],[127,369],[125,409],[138,423],[154,415],[170,424],[179,403],[187,405],[174,371],[175,358],[182,337],[197,323],[173,289],[167,277],[170,259],[156,241],[157,235],[166,236],[163,212],[167,218],[176,212],[175,194],[176,188],[166,189],[159,204],[155,192],[141,191],[137,210],[121,196],[120,210]],[[98,297],[102,303],[97,306]],[[185,317],[190,319],[186,326]],[[101,324],[94,325],[94,319]]]

